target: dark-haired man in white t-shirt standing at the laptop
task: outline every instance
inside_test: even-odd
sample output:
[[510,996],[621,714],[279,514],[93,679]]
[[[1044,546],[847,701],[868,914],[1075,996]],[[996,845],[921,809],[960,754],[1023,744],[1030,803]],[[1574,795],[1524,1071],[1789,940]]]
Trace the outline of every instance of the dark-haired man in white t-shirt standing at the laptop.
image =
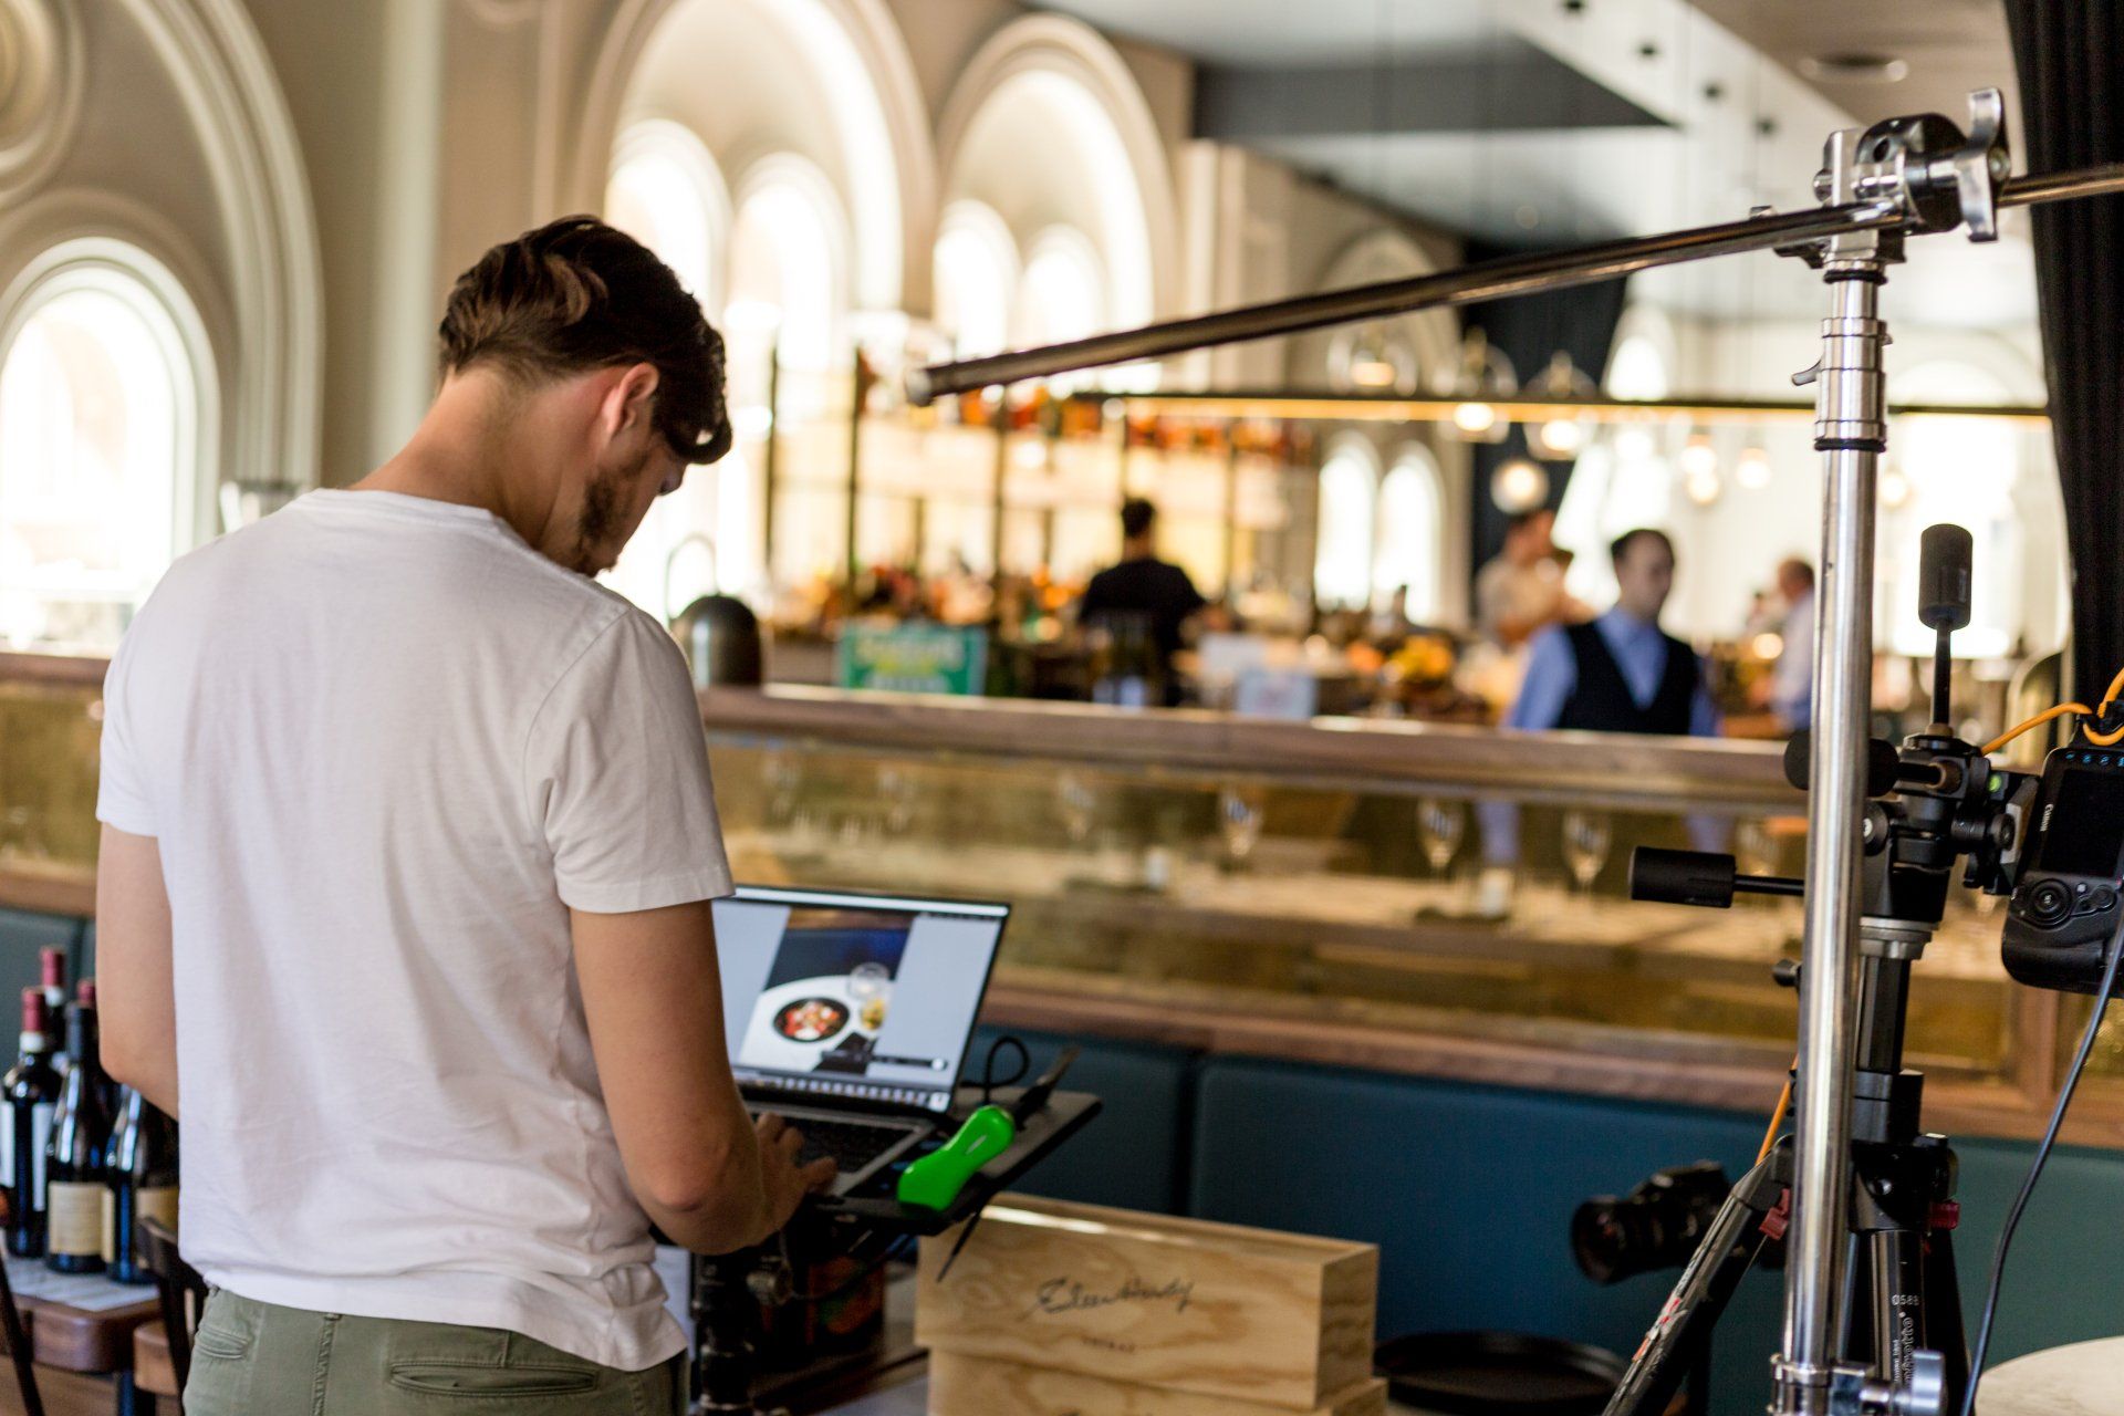
[[731,1078],[678,645],[590,580],[729,442],[695,299],[556,221],[457,280],[397,456],[119,645],[102,1051],[185,1127],[191,1416],[678,1410],[650,1221],[731,1250],[830,1178]]

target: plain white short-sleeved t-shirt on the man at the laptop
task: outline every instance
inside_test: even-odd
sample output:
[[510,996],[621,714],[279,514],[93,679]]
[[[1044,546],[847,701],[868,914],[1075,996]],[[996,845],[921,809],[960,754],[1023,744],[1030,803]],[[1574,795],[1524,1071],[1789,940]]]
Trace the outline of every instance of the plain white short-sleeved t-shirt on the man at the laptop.
[[161,847],[210,1282],[622,1369],[684,1348],[567,915],[731,885],[654,620],[489,512],[310,493],[140,609],[98,815]]

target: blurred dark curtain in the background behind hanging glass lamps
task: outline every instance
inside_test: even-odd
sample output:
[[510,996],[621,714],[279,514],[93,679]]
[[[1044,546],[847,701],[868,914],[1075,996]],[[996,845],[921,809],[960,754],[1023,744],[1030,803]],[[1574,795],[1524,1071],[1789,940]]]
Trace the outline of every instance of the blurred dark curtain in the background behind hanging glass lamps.
[[[1523,255],[1504,246],[1483,246],[1470,242],[1470,261],[1489,261],[1502,255]],[[1623,293],[1629,280],[1604,280],[1570,291],[1542,291],[1517,299],[1489,299],[1466,306],[1461,323],[1480,329],[1493,346],[1504,350],[1519,374],[1521,386],[1548,367],[1548,357],[1559,348],[1572,357],[1578,372],[1599,382],[1608,367],[1608,348],[1614,344],[1614,325],[1623,316]],[[1468,524],[1472,556],[1470,571],[1480,569],[1504,548],[1504,529],[1510,516],[1497,510],[1489,497],[1489,478],[1497,467],[1527,454],[1525,429],[1512,425],[1512,433],[1497,444],[1474,446],[1474,516]],[[1540,461],[1540,459],[1536,459]],[[1563,503],[1563,488],[1572,480],[1572,463],[1542,463],[1548,469],[1548,505]]]

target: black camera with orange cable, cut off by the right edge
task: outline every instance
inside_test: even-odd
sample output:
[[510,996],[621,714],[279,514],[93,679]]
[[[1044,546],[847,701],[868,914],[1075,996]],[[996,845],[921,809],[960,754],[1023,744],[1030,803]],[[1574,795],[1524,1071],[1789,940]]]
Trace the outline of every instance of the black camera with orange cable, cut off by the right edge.
[[2005,915],[2005,970],[2033,987],[2094,994],[2124,896],[2124,747],[2079,737],[2050,754],[2026,858]]

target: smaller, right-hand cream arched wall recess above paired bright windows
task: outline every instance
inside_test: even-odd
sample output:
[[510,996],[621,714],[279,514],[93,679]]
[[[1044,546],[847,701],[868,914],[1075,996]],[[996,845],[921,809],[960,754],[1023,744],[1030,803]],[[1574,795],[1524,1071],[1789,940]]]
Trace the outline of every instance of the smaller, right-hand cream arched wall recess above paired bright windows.
[[975,51],[937,123],[945,200],[996,210],[1020,251],[1083,231],[1104,276],[1100,325],[1177,308],[1179,210],[1149,102],[1096,30],[1026,15]]

